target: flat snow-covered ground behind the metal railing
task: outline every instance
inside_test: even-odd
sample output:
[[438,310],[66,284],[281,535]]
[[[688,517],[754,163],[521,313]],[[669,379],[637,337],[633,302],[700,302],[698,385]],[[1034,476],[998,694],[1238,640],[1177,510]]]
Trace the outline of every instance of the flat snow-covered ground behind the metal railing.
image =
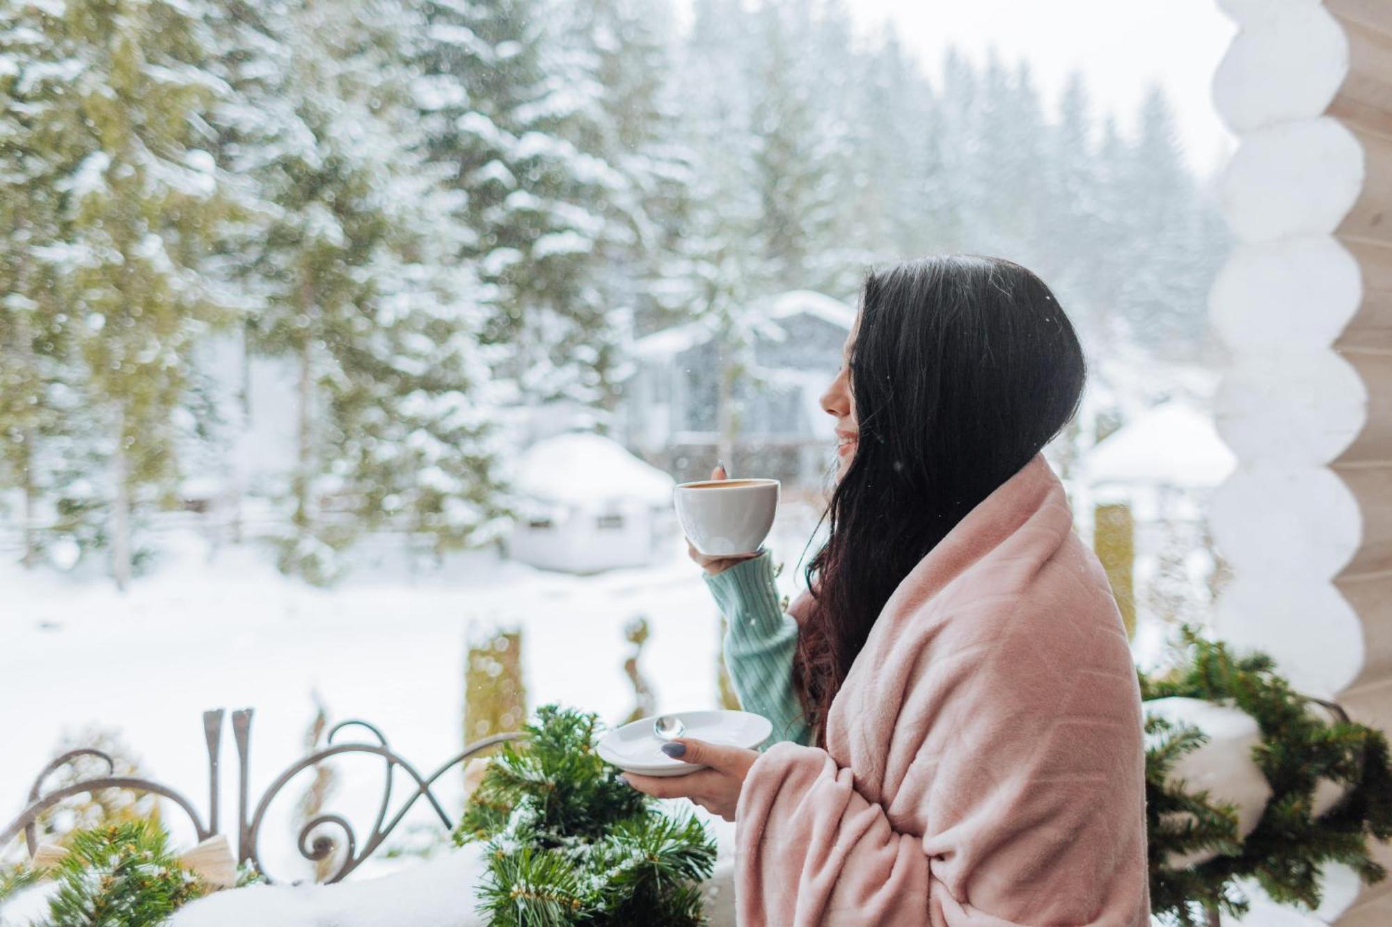
[[[771,541],[780,555],[786,551],[780,582],[789,590],[806,529],[806,512],[781,515]],[[331,720],[372,721],[426,771],[462,743],[466,646],[494,628],[522,629],[530,707],[560,702],[606,721],[626,715],[635,699],[622,671],[632,650],[624,625],[635,615],[649,621],[640,668],[658,708],[715,704],[718,617],[683,544],[658,565],[594,576],[475,553],[415,575],[391,566],[359,571],[329,590],[281,576],[256,548],[210,557],[196,534],[164,547],[155,573],[127,594],[96,578],[75,585],[71,576],[18,568],[0,573],[0,704],[10,713],[0,821],[22,806],[60,735],[92,724],[118,728],[148,774],[206,809],[200,713],[210,707],[256,708],[255,802],[303,756],[312,690]],[[230,727],[228,720],[224,827],[237,811]],[[361,841],[380,796],[380,763],[344,760],[338,770],[329,810],[348,811]],[[281,880],[308,876],[290,820],[308,779],[283,793],[263,828],[263,862]],[[457,775],[443,782],[443,798],[457,793]],[[175,809],[166,820],[180,843],[191,841]],[[381,866],[361,871],[374,869]]]

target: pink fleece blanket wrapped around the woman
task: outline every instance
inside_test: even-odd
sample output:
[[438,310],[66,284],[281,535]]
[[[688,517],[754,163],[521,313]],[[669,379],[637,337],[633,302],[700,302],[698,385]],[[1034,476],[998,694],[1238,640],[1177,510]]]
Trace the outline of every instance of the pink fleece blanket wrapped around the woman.
[[1140,689],[1072,522],[1036,455],[905,576],[827,749],[749,770],[743,927],[1148,923]]

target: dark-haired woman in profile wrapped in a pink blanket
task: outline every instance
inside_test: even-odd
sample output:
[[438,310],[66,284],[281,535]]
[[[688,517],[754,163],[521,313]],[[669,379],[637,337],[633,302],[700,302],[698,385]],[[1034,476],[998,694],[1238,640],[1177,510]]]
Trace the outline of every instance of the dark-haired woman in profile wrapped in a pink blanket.
[[[1107,576],[1041,448],[1083,390],[1054,295],[1006,260],[871,271],[825,544],[784,614],[767,551],[693,557],[764,753],[629,775],[736,821],[741,923],[1148,921],[1140,692]],[[717,476],[721,476],[717,472]]]

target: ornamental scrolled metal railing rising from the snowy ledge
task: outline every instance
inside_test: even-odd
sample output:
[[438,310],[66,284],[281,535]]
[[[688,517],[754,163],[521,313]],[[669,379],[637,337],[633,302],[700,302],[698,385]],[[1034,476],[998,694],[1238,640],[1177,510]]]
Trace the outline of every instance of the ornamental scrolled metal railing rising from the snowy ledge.
[[[64,799],[88,792],[95,793],[102,789],[129,789],[132,792],[159,795],[160,798],[168,799],[175,807],[184,811],[192,823],[199,841],[205,841],[214,834],[221,834],[223,823],[219,810],[221,786],[220,756],[224,714],[223,708],[203,713],[203,735],[207,742],[206,818],[199,813],[193,802],[185,798],[181,792],[164,785],[163,782],[145,777],[116,775],[116,763],[110,754],[97,749],[82,747],[70,750],[43,767],[38,778],[35,778],[33,786],[29,789],[28,805],[25,805],[24,810],[19,811],[18,817],[10,821],[4,831],[0,831],[0,849],[8,846],[15,837],[24,832],[25,845],[28,846],[29,856],[32,857],[35,850],[39,848],[38,821],[45,811],[60,805]],[[295,778],[296,774],[305,771],[306,768],[341,754],[379,756],[383,761],[384,775],[381,800],[377,805],[372,828],[365,837],[359,838],[352,827],[352,823],[345,816],[335,813],[316,814],[305,821],[303,827],[299,830],[296,846],[299,849],[299,855],[306,860],[320,863],[322,860],[341,853],[341,860],[337,869],[334,869],[333,873],[323,880],[326,884],[337,882],[358,869],[363,860],[377,852],[377,849],[381,848],[383,841],[386,841],[391,831],[401,824],[402,818],[405,818],[406,813],[416,805],[416,802],[422,799],[425,799],[430,810],[434,811],[434,816],[438,817],[440,824],[447,831],[452,831],[457,818],[445,810],[444,805],[441,805],[433,791],[434,785],[440,781],[440,777],[491,746],[523,736],[522,734],[496,734],[493,736],[483,738],[482,740],[468,745],[464,750],[430,772],[422,774],[405,757],[391,749],[387,743],[386,735],[374,725],[358,720],[340,721],[329,731],[326,746],[287,766],[284,771],[266,788],[266,791],[262,792],[260,798],[252,803],[248,772],[251,768],[251,734],[253,714],[255,711],[252,708],[232,711],[232,739],[237,745],[237,821],[232,830],[227,832],[227,837],[228,842],[231,842],[231,838],[235,837],[237,863],[251,863],[267,882],[274,880],[270,873],[266,871],[260,859],[259,841],[262,824],[264,823],[266,813],[276,798],[284,791],[290,781]],[[335,742],[338,735],[348,729],[366,732],[372,739]],[[45,782],[50,775],[64,766],[71,764],[74,760],[85,756],[96,757],[100,763],[103,763],[106,766],[106,774],[81,778],[68,785],[63,785],[61,788],[56,788],[49,792],[45,791]],[[398,799],[395,802],[395,807],[393,807],[393,785],[398,779],[405,782],[408,793],[404,799]],[[338,839],[322,832],[324,828],[337,828],[340,831]],[[310,837],[313,837],[313,839],[310,839]]]

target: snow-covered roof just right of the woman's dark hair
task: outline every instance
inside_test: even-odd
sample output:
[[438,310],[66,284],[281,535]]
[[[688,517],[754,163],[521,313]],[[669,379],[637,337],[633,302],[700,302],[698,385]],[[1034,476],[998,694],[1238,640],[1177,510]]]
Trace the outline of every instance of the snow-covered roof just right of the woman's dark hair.
[[1093,483],[1208,489],[1228,479],[1236,464],[1208,415],[1166,402],[1098,441],[1084,472]]

